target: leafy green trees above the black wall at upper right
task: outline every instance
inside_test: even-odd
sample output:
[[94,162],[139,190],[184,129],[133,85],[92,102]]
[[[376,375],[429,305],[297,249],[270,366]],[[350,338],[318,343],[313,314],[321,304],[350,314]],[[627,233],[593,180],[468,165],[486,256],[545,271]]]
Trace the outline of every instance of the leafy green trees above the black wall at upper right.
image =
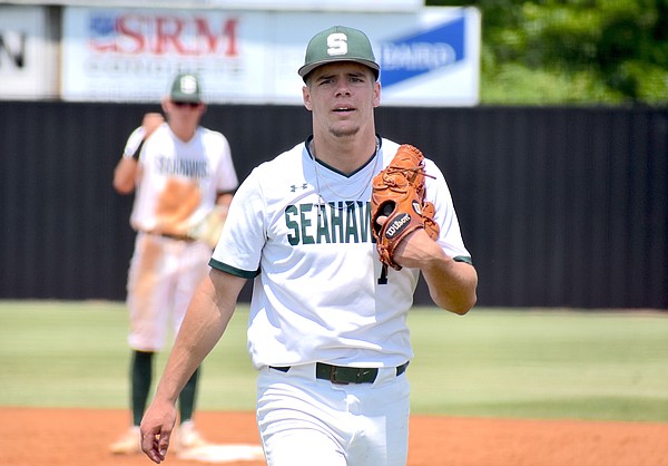
[[483,104],[668,103],[668,0],[426,0],[482,12]]

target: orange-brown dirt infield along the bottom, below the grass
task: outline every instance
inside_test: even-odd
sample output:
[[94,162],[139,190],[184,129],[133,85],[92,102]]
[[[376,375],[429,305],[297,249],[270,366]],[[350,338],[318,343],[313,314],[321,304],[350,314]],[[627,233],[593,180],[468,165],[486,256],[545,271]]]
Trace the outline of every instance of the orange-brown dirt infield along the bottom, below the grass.
[[[209,440],[258,444],[252,412],[198,412]],[[0,408],[0,465],[148,466],[112,456],[121,410]],[[165,465],[210,463],[168,457]],[[225,463],[262,466],[262,462]],[[413,416],[409,466],[668,466],[668,424],[461,419]],[[314,463],[314,466],[318,466]]]

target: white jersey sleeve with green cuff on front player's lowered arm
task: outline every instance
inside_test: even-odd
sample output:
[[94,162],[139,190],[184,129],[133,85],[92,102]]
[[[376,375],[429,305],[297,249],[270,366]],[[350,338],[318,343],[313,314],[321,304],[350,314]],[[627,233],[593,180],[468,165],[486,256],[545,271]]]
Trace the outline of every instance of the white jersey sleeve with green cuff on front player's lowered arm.
[[255,171],[235,193],[209,261],[214,269],[246,279],[258,274],[266,240],[266,205]]

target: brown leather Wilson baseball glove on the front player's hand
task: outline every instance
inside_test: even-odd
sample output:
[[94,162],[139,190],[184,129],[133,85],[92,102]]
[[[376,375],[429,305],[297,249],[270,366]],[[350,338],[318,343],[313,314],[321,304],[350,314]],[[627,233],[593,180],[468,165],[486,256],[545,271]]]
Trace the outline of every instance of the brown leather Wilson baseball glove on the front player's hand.
[[[432,240],[439,237],[439,225],[433,221],[434,205],[424,201],[424,156],[420,149],[404,144],[396,155],[373,178],[371,193],[371,225],[383,271],[379,284],[387,283],[387,266],[401,270],[392,259],[396,246],[406,235],[424,229]],[[383,225],[380,216],[386,216]]]

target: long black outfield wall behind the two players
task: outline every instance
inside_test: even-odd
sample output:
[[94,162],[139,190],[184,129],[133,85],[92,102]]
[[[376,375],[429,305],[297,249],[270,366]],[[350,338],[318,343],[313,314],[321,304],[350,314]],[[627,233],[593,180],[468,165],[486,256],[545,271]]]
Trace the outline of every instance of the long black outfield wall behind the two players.
[[[111,188],[149,104],[0,105],[0,299],[125,298],[131,196]],[[668,114],[399,108],[383,136],[443,169],[493,307],[668,308]],[[239,176],[310,133],[298,106],[212,106]],[[248,288],[243,299],[248,299]],[[429,303],[421,284],[418,303]]]

